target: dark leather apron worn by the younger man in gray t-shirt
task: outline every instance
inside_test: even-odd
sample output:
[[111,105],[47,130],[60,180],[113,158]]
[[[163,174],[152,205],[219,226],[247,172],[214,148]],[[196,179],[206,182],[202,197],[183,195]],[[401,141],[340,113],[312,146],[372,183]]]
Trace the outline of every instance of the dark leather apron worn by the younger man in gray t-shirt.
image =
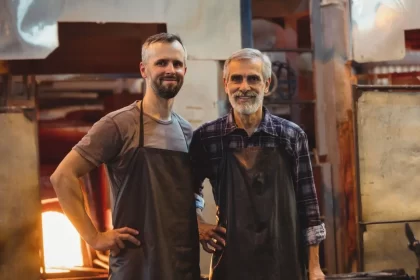
[[109,279],[198,280],[199,240],[188,153],[144,147],[143,104],[139,138],[129,169],[132,182],[125,182],[117,195],[113,223],[115,228],[137,229],[141,246],[125,242],[126,248],[110,257]]

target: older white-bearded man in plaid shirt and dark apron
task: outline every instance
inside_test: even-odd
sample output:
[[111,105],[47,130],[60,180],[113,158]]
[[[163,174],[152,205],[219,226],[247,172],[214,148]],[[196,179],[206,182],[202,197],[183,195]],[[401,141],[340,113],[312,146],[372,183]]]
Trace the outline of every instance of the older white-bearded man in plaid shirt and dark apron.
[[210,277],[307,279],[309,246],[309,278],[323,279],[325,228],[306,134],[263,107],[271,62],[242,49],[225,62],[223,77],[233,109],[198,128],[190,148],[196,187],[209,178],[218,206],[217,226],[197,209],[200,242],[214,253]]

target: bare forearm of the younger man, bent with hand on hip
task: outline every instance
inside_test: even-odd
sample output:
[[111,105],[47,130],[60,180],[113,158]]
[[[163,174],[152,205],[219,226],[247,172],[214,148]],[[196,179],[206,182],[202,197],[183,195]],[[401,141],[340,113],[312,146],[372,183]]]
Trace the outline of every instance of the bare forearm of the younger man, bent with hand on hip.
[[98,231],[86,212],[79,179],[71,174],[53,174],[51,183],[63,212],[77,229],[80,236],[92,246]]

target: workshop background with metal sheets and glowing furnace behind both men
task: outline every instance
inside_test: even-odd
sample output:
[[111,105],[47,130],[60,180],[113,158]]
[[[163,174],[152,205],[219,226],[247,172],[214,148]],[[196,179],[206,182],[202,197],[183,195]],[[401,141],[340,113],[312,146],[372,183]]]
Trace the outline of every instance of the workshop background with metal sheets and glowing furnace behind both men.
[[[231,53],[270,58],[264,105],[308,136],[326,279],[420,280],[418,14],[417,0],[0,0],[0,279],[108,279],[108,253],[79,236],[49,178],[96,121],[142,99],[141,46],[172,32],[188,50],[174,110],[194,128],[230,109]],[[111,229],[104,166],[81,186]],[[208,182],[204,198],[215,221]]]

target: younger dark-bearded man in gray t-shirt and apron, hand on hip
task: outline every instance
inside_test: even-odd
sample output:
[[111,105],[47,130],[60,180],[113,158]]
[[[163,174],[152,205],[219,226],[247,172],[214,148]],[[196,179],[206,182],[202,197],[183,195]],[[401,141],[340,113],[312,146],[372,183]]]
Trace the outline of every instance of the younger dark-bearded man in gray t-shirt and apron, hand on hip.
[[[94,249],[110,250],[110,279],[198,280],[199,242],[188,156],[191,125],[172,112],[186,73],[181,39],[146,40],[142,101],[98,121],[51,176],[60,204]],[[98,232],[83,206],[78,178],[105,163],[114,230]]]

